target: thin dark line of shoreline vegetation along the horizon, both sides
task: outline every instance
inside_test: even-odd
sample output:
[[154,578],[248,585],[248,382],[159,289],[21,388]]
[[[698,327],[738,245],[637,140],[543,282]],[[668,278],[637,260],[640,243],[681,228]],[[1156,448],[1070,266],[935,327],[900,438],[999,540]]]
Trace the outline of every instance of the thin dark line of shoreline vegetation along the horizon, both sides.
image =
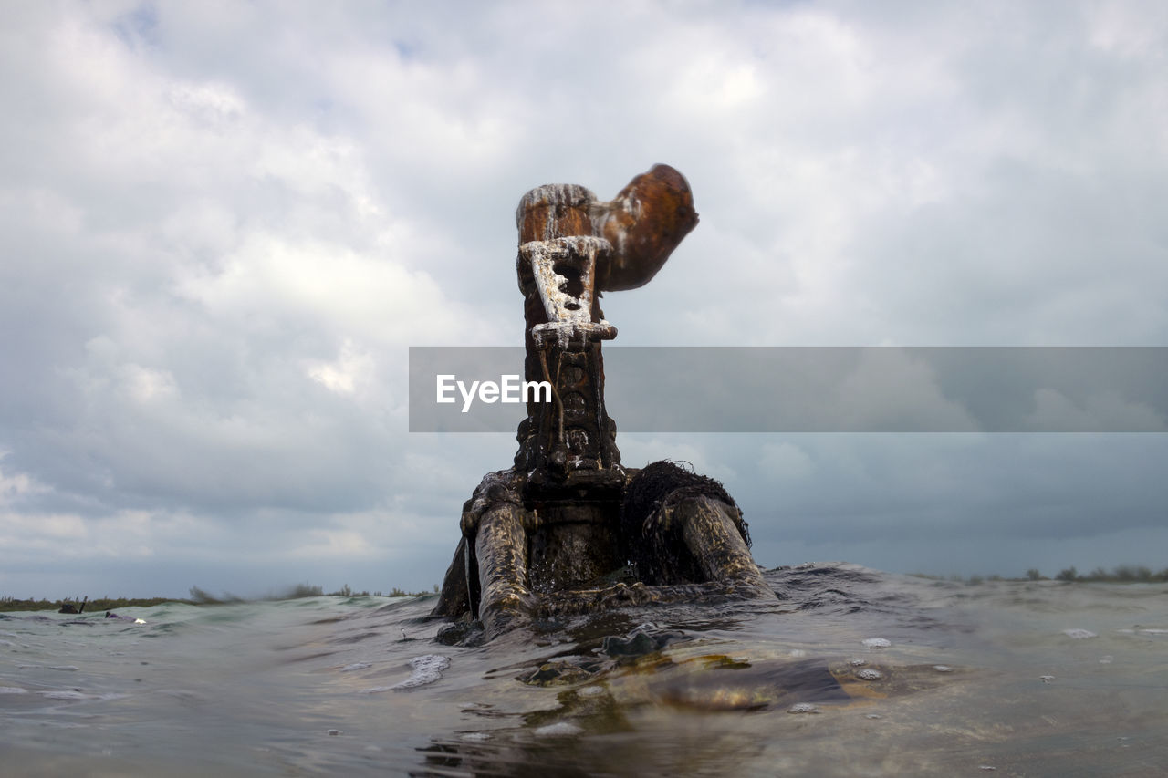
[[[1096,568],[1091,572],[1080,574],[1073,565],[1064,570],[1059,570],[1054,577],[1048,577],[1042,575],[1037,568],[1031,568],[1027,570],[1026,575],[1017,578],[1007,578],[1003,576],[937,576],[926,572],[910,572],[913,578],[924,578],[926,581],[946,581],[950,583],[964,583],[967,585],[978,585],[981,583],[989,582],[1027,582],[1027,581],[1058,581],[1063,583],[1168,583],[1168,568],[1159,572],[1153,572],[1150,568],[1143,565],[1134,564],[1121,564],[1113,568],[1111,571],[1104,568]],[[279,593],[279,595],[267,595],[266,597],[237,597],[229,592],[224,592],[218,597],[215,597],[199,586],[192,586],[189,597],[146,597],[146,598],[132,598],[132,597],[98,597],[90,599],[85,603],[86,613],[99,613],[103,611],[112,611],[118,607],[154,607],[164,603],[181,603],[185,605],[229,605],[232,603],[252,603],[252,602],[281,602],[287,599],[305,599],[308,597],[424,597],[426,595],[433,595],[438,592],[438,585],[434,584],[432,591],[404,591],[394,586],[388,592],[369,592],[369,591],[353,591],[348,584],[345,584],[336,591],[325,592],[324,588],[314,586],[310,584],[297,584],[292,589]],[[77,606],[82,603],[82,597],[65,598],[65,599],[16,599],[15,597],[0,597],[0,612],[13,612],[13,611],[60,611],[65,605]]]

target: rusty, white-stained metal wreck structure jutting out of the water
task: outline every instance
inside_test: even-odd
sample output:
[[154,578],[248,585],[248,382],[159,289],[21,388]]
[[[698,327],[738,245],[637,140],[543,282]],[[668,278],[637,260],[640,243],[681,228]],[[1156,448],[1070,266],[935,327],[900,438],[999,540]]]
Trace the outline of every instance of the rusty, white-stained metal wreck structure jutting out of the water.
[[712,479],[670,463],[625,468],[604,404],[600,294],[648,283],[697,224],[667,165],[611,201],[576,185],[531,189],[516,211],[528,381],[551,384],[519,425],[514,465],[463,507],[463,537],[433,616],[487,639],[533,618],[653,602],[773,593],[742,512]]

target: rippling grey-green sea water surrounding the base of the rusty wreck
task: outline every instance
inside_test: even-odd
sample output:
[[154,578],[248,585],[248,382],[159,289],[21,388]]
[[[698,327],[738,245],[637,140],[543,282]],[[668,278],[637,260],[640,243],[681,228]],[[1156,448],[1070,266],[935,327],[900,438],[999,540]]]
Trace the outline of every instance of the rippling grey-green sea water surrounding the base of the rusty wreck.
[[0,774],[1168,774],[1168,585],[766,577],[480,647],[432,597],[4,613]]

